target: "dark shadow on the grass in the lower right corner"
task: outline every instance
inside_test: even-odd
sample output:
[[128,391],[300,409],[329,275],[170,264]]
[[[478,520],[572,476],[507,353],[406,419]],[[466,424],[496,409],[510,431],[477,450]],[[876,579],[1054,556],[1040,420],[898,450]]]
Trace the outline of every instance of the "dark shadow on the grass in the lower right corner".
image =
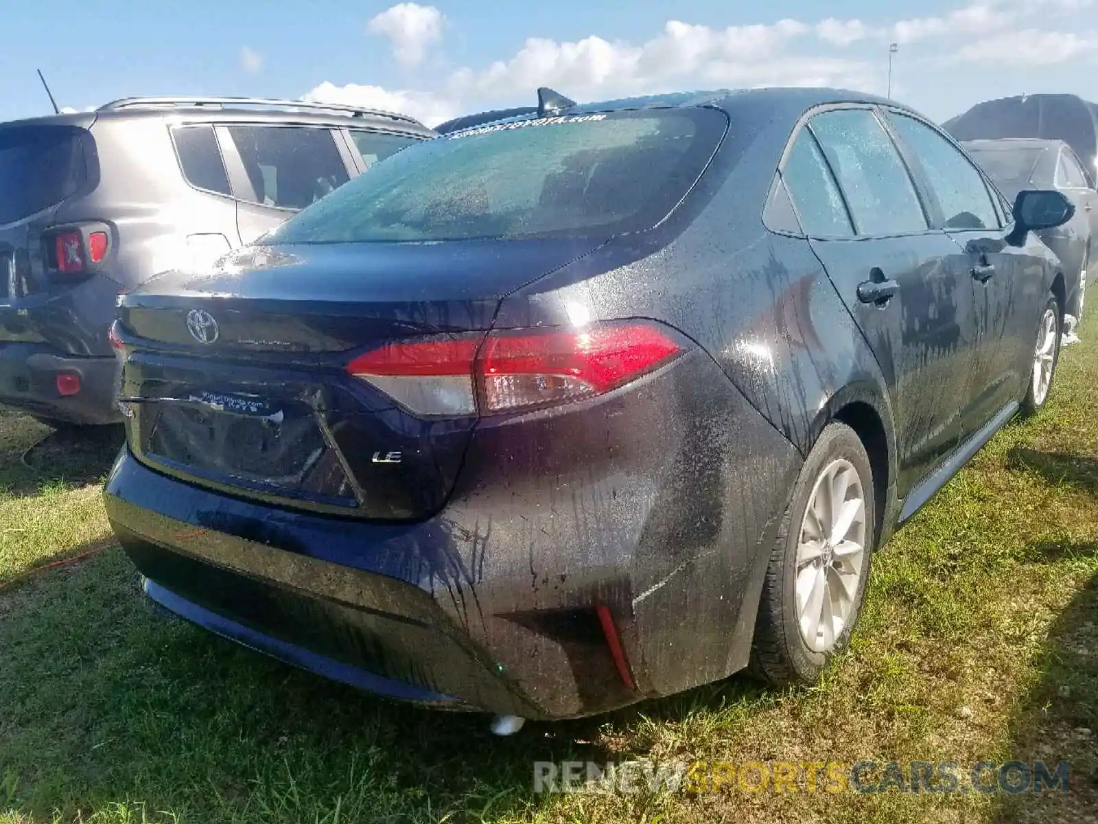
[[[1098,544],[1063,555],[1098,557]],[[1098,811],[1098,575],[1057,616],[1038,669],[1040,679],[1010,723],[1010,758],[1069,762],[1067,792],[1006,795],[997,824],[1094,821]],[[1088,817],[1089,816],[1089,817]]]

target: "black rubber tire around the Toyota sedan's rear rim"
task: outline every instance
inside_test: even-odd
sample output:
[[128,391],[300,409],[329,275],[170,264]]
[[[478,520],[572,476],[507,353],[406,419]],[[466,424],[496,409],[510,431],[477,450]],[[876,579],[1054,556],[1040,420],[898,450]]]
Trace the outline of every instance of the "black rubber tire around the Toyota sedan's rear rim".
[[[852,600],[845,627],[827,652],[816,652],[806,644],[797,621],[795,592],[797,545],[808,504],[821,475],[836,460],[844,459],[858,472],[865,502],[863,560],[861,579]],[[830,423],[808,453],[793,490],[793,499],[782,516],[777,538],[771,550],[763,583],[759,617],[752,649],[752,670],[776,687],[811,684],[819,680],[828,659],[850,643],[850,635],[862,611],[865,582],[876,541],[876,501],[873,470],[858,434],[842,423]]]

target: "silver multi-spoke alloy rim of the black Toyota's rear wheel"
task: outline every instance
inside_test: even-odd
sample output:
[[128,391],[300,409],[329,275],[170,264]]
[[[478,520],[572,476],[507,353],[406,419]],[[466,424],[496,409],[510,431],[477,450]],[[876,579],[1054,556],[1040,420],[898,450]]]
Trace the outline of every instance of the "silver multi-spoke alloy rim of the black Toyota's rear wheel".
[[837,458],[816,479],[797,536],[797,625],[815,653],[830,652],[850,621],[865,570],[865,530],[862,478]]

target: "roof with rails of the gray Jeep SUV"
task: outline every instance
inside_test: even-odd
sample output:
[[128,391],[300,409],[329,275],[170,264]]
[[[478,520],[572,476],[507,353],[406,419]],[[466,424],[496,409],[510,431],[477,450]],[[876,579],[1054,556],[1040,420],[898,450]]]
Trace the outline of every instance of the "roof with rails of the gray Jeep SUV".
[[48,114],[9,121],[0,123],[0,129],[36,125],[70,125],[88,129],[97,120],[135,119],[370,127],[418,134],[424,137],[435,136],[435,132],[419,121],[395,112],[256,98],[127,98],[90,112]]

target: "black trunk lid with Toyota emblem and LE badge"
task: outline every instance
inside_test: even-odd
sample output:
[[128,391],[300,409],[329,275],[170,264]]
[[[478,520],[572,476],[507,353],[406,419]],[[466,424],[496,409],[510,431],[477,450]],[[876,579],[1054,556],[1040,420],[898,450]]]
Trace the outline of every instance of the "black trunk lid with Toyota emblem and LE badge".
[[597,245],[274,246],[156,278],[120,302],[130,448],[272,503],[426,517],[475,415],[414,414],[348,365],[394,341],[486,334],[500,298]]

